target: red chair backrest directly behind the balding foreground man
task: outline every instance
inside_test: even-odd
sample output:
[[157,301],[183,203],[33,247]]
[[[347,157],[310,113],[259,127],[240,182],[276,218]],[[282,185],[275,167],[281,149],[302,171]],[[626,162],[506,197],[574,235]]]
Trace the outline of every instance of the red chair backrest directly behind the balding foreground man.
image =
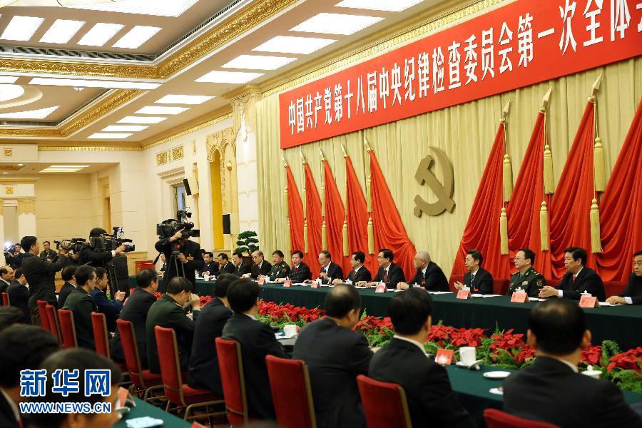
[[272,399],[277,422],[283,428],[315,428],[315,406],[307,364],[303,360],[287,360],[267,355]]

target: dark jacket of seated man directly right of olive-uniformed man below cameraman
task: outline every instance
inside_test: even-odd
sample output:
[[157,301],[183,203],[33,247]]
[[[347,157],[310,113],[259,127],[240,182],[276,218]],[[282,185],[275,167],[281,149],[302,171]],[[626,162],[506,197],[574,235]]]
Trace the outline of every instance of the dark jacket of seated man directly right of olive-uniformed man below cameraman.
[[190,357],[188,377],[190,387],[207,389],[223,396],[214,340],[223,335],[223,327],[230,317],[232,317],[232,311],[225,307],[223,300],[218,297],[214,297],[214,300],[200,311],[194,328],[194,342]]

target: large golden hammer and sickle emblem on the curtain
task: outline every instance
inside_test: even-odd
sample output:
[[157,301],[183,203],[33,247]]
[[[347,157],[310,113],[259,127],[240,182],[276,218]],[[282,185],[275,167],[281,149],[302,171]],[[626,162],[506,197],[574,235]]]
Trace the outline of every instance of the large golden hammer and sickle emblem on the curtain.
[[434,194],[437,196],[437,202],[427,203],[421,196],[414,196],[414,215],[421,217],[422,213],[427,215],[439,215],[445,210],[448,210],[452,213],[454,210],[455,203],[452,200],[452,194],[454,193],[454,175],[452,170],[452,163],[450,163],[446,153],[439,148],[429,147],[435,155],[437,155],[437,160],[444,170],[444,184],[439,183],[437,177],[430,170],[432,164],[434,163],[434,158],[430,155],[427,155],[419,162],[419,168],[417,172],[414,173],[414,179],[417,180],[419,185],[428,184],[428,187],[432,189]]

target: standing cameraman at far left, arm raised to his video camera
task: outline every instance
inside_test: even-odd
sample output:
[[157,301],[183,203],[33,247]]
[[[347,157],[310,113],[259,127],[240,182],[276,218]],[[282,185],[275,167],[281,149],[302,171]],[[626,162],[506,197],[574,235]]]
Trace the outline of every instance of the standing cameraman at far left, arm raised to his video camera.
[[29,310],[34,325],[40,325],[40,313],[37,300],[45,300],[49,305],[57,307],[56,286],[51,280],[51,274],[61,270],[67,263],[68,250],[58,250],[58,260],[55,263],[39,258],[40,243],[35,236],[24,236],[20,240],[22,248],[27,252],[22,260],[22,273],[29,283]]

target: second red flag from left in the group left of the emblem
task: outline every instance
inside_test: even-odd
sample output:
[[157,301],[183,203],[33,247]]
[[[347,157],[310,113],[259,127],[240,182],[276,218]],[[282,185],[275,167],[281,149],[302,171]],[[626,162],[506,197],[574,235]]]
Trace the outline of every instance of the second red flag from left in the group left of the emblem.
[[305,208],[307,214],[307,254],[305,263],[310,266],[312,278],[319,276],[319,253],[321,252],[321,198],[310,165],[305,163]]

